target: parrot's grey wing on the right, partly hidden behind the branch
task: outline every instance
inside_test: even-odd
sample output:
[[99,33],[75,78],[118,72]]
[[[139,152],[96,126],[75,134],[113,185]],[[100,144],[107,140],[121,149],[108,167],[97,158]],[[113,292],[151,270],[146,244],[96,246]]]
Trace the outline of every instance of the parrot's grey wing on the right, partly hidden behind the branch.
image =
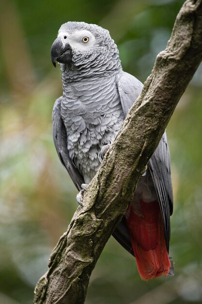
[[[136,101],[142,90],[142,84],[134,76],[122,72],[118,81],[117,88],[120,96],[120,101],[124,111],[127,115],[128,110]],[[166,247],[169,250],[170,241],[170,215],[172,214],[172,185],[171,185],[171,165],[170,165],[170,152],[167,143],[166,133],[162,136],[160,143],[148,162],[148,168],[151,172],[154,182],[160,210],[162,214]],[[118,227],[119,229],[119,227]],[[118,230],[117,230],[118,231]],[[115,231],[116,233],[116,231]],[[118,233],[119,234],[119,233]],[[121,237],[121,236],[120,236]],[[118,238],[118,236],[117,236]],[[125,239],[125,248],[129,248],[130,243]],[[118,239],[117,239],[118,240]]]

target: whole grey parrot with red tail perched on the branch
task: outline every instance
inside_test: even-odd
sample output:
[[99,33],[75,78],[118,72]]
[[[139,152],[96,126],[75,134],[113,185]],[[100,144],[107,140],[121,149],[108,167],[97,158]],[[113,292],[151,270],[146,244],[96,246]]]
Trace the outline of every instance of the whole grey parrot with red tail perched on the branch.
[[[54,143],[80,191],[99,169],[101,150],[113,142],[143,85],[123,71],[109,31],[95,24],[64,23],[51,47],[51,60],[55,67],[60,63],[63,87],[53,108]],[[143,280],[173,274],[169,258],[173,205],[170,167],[164,133],[113,233],[136,257]]]

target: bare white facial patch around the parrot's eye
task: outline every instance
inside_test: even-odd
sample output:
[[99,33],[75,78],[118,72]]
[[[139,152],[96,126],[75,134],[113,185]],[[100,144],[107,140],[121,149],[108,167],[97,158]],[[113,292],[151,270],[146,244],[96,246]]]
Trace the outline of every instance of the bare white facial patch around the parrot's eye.
[[[58,37],[61,37],[62,44],[65,45],[66,43],[69,43],[69,45],[77,49],[78,51],[87,51],[92,48],[92,46],[95,43],[95,36],[86,30],[81,31],[75,31],[72,34],[69,34],[67,32],[60,32],[58,34]],[[84,37],[88,37],[88,42],[83,42],[82,39]],[[85,41],[85,39],[83,39]]]

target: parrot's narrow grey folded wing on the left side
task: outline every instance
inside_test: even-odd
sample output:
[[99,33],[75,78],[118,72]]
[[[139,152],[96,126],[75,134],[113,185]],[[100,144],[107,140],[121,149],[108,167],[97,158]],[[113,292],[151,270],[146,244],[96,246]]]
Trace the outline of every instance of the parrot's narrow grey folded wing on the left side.
[[62,165],[67,169],[77,189],[81,190],[81,184],[84,183],[84,179],[69,157],[67,134],[61,117],[61,101],[62,97],[58,98],[53,107],[53,140]]

